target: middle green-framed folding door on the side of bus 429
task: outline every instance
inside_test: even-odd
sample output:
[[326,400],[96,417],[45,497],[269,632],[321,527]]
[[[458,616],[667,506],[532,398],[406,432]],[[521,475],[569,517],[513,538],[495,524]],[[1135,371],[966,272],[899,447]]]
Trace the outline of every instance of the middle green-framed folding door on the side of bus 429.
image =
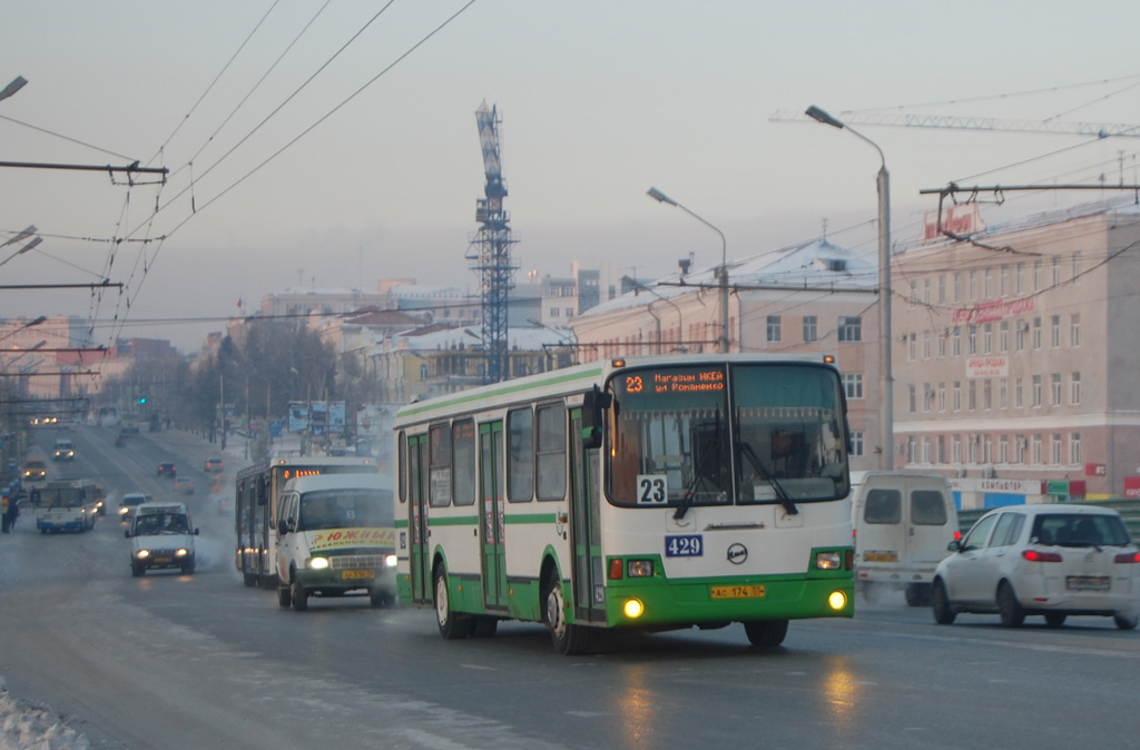
[[479,425],[479,497],[483,549],[483,604],[507,608],[506,546],[503,508],[503,423]]

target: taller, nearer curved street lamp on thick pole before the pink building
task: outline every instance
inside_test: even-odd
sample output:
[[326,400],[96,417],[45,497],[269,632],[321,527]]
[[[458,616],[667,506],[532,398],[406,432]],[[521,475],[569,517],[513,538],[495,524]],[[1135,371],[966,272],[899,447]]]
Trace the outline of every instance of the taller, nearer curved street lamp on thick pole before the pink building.
[[874,147],[879,153],[879,468],[895,467],[895,401],[890,372],[890,174],[887,157],[873,140],[850,125],[836,120],[815,105],[807,108],[807,116],[849,133]]

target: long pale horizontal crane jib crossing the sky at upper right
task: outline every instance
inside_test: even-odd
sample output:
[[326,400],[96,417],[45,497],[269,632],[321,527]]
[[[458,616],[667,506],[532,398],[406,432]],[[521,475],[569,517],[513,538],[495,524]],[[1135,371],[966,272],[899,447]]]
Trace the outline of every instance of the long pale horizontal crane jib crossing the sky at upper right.
[[[1140,138],[1140,125],[1109,122],[1060,122],[968,117],[954,115],[887,114],[844,112],[839,120],[848,125],[883,125],[889,128],[925,128],[927,130],[986,130],[1093,138]],[[804,112],[776,109],[768,122],[815,122]]]

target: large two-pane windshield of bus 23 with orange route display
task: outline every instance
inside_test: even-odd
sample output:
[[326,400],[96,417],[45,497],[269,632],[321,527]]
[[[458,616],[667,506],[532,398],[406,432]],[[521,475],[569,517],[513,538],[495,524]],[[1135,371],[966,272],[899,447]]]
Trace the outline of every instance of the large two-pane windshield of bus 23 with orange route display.
[[709,365],[614,377],[606,489],[629,506],[832,500],[848,491],[834,369]]

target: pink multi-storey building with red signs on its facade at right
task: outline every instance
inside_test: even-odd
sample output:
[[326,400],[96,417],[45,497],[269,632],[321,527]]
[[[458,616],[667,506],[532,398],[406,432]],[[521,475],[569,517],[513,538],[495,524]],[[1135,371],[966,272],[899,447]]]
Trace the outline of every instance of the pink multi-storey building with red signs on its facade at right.
[[899,465],[966,507],[1140,492],[1140,209],[971,239],[894,258]]

